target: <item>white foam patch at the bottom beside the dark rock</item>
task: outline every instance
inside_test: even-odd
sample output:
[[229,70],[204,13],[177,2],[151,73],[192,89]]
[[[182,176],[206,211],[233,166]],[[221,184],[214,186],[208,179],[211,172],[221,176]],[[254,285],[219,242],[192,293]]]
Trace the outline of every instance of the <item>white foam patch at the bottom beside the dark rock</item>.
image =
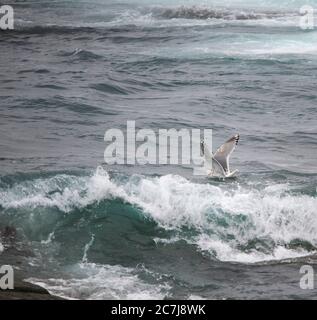
[[156,300],[168,296],[168,284],[149,284],[142,281],[132,268],[119,265],[80,263],[74,266],[71,279],[37,279],[26,281],[47,289],[51,294],[67,299],[128,299]]

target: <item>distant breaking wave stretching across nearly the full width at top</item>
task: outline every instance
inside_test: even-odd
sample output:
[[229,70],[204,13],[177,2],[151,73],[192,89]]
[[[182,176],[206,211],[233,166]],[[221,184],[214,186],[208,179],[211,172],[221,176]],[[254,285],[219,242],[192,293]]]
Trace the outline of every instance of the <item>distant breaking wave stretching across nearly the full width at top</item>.
[[[265,8],[210,7],[204,5],[181,6],[137,6],[118,11],[115,15],[100,20],[38,25],[32,21],[18,21],[16,33],[29,34],[77,34],[96,33],[111,35],[120,31],[133,32],[136,27],[177,27],[222,23],[243,23],[256,25],[296,26],[301,14],[299,7],[269,10]],[[121,29],[123,28],[123,29]]]

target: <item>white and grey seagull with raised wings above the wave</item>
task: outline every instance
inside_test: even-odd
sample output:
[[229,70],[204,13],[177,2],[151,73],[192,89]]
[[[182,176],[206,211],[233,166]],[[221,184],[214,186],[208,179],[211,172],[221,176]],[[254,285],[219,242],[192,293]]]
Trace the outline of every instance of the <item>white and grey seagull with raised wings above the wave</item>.
[[233,177],[238,170],[230,171],[229,158],[236,145],[238,144],[240,135],[236,134],[227,140],[213,155],[209,151],[206,143],[201,141],[200,147],[203,156],[205,157],[205,167],[209,177]]

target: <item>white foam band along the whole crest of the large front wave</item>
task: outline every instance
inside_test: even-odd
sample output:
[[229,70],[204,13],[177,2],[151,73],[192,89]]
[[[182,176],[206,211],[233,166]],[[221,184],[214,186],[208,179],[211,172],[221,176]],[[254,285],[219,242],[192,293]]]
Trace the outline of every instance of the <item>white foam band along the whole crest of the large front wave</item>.
[[[59,192],[53,193],[56,188]],[[157,243],[183,239],[219,260],[250,263],[307,255],[303,249],[290,248],[294,240],[317,247],[317,198],[291,191],[287,184],[214,186],[175,175],[132,176],[120,182],[98,168],[91,177],[55,176],[0,190],[0,205],[6,209],[57,207],[69,212],[120,198],[174,232],[174,238],[154,239]],[[249,243],[256,245],[250,248]]]

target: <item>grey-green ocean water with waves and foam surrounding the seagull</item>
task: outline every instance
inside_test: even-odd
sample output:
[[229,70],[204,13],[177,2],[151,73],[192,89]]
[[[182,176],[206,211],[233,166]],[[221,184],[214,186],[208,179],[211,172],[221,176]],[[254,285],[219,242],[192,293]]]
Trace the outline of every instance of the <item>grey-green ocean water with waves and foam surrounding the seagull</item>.
[[[316,297],[317,1],[9,3],[0,264],[71,299]],[[107,165],[127,120],[239,132],[240,174]]]

